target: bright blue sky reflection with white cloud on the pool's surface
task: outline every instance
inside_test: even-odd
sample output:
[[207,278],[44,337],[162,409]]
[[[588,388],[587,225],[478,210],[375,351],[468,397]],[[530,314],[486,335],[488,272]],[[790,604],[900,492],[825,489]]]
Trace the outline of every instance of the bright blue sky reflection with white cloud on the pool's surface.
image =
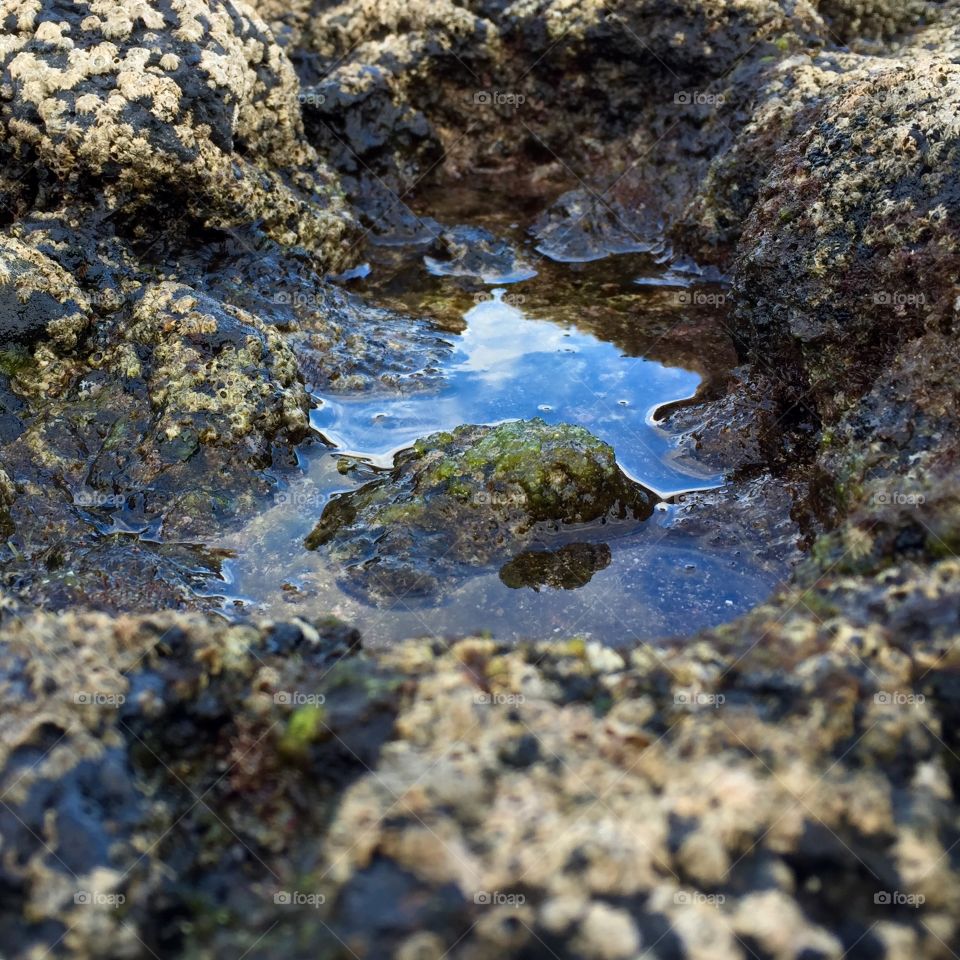
[[694,396],[697,374],[624,356],[574,326],[531,319],[502,288],[490,297],[464,314],[463,333],[451,338],[440,391],[321,397],[313,426],[338,452],[389,467],[397,450],[439,430],[542,417],[606,440],[626,473],[661,495],[720,482],[671,466],[670,439],[652,422],[657,407]]

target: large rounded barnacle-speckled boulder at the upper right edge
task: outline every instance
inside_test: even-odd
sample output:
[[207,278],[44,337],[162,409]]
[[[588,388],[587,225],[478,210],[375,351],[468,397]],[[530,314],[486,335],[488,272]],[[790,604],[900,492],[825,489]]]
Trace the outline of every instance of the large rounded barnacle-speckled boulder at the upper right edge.
[[744,336],[830,420],[900,344],[954,316],[960,74],[924,56],[823,104],[781,149],[741,240]]

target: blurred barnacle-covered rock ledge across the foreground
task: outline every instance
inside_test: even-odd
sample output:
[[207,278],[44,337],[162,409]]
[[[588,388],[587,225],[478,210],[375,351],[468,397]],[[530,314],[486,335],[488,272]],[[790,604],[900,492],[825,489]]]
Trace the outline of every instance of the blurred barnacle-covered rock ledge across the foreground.
[[957,575],[625,653],[12,622],[5,950],[949,956]]

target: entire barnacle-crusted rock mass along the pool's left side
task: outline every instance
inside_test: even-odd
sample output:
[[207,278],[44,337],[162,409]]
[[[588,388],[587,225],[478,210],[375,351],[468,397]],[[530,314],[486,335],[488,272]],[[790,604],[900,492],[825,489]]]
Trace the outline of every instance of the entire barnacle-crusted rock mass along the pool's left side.
[[4,583],[196,603],[220,561],[193,544],[295,465],[305,386],[409,389],[447,347],[324,282],[354,219],[250,6],[10,3],[0,22]]

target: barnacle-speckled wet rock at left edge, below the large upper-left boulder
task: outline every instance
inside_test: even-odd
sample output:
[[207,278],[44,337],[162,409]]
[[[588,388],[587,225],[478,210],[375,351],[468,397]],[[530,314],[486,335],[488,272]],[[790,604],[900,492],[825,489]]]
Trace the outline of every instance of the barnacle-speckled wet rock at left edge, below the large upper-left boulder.
[[85,361],[41,346],[14,364],[8,582],[54,607],[208,606],[208,534],[269,499],[265,471],[306,436],[296,360],[273,327],[172,281],[132,288],[92,339]]

